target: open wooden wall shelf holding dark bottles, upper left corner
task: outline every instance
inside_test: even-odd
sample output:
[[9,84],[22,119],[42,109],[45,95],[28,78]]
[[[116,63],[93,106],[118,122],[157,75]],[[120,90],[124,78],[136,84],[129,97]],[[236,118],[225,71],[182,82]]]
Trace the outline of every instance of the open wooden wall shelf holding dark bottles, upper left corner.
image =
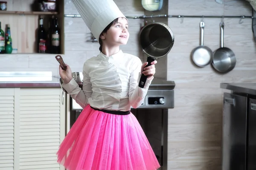
[[[32,8],[39,6],[36,2],[40,1],[9,0],[7,1],[7,11],[0,11],[0,22],[4,32],[6,32],[6,24],[10,24],[12,48],[17,48],[18,54],[36,53],[39,17],[44,18],[44,28],[48,31],[49,20],[52,15],[55,15],[58,17],[58,27],[61,30],[61,54],[64,54],[64,0],[56,1],[57,11],[32,11]],[[1,54],[1,56],[3,55],[13,54]]]

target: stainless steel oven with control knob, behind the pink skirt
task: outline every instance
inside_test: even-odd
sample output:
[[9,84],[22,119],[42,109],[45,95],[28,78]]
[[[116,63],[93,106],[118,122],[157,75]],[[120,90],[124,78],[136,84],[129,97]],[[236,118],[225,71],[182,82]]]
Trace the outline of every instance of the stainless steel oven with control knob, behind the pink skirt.
[[[159,170],[167,170],[168,109],[174,108],[174,88],[173,81],[154,79],[143,104],[139,108],[131,108],[161,165]],[[70,127],[81,111],[82,108],[70,98]]]

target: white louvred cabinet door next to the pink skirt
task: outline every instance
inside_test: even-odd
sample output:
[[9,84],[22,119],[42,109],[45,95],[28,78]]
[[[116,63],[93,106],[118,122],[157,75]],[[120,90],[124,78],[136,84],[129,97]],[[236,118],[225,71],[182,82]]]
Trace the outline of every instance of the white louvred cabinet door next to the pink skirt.
[[56,152],[65,137],[61,88],[20,89],[20,170],[60,170]]

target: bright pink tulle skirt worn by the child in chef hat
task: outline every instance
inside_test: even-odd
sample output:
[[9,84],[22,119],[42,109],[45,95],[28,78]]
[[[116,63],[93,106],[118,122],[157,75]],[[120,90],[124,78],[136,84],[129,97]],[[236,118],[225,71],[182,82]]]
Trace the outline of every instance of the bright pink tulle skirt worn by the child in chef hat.
[[67,170],[157,170],[160,164],[137,118],[87,105],[61,143],[58,163]]

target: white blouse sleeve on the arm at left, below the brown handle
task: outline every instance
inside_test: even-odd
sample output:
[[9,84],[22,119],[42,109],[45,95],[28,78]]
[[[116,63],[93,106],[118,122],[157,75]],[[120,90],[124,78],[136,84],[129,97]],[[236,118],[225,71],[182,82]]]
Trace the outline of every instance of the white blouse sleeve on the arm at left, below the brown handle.
[[90,77],[86,74],[85,68],[83,68],[83,77],[83,90],[79,88],[79,85],[74,79],[71,79],[67,84],[63,83],[62,87],[82,108],[85,108],[85,106],[88,105],[88,99],[93,93]]

